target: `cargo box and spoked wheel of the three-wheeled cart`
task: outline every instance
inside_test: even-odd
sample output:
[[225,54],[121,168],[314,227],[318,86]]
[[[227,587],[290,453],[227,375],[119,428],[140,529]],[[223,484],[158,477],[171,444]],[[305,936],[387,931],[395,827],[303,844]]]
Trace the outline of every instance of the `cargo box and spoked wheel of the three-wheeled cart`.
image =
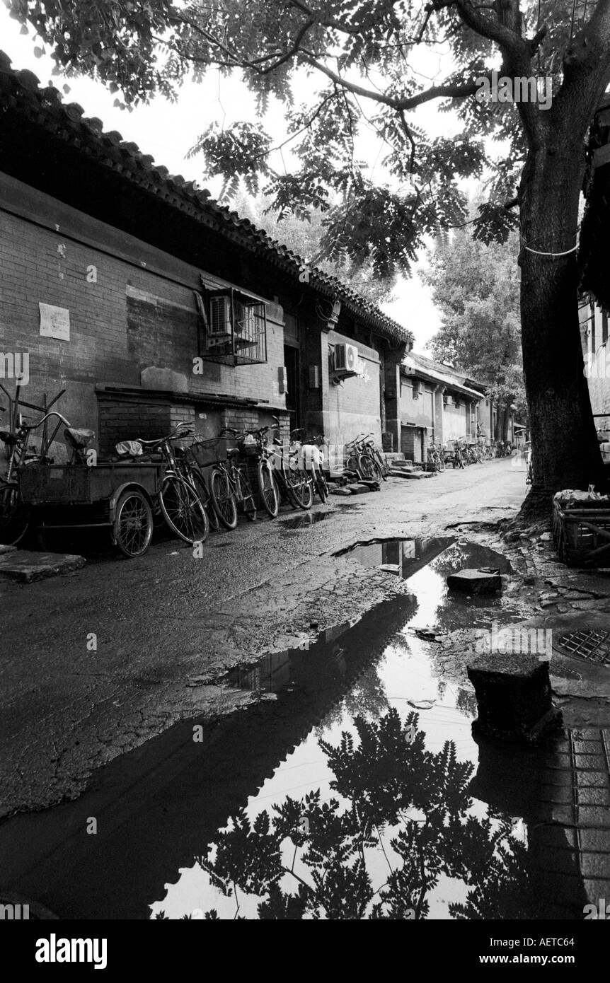
[[131,557],[151,545],[163,472],[160,462],[30,464],[20,469],[19,483],[42,540],[58,529],[106,528],[113,546]]

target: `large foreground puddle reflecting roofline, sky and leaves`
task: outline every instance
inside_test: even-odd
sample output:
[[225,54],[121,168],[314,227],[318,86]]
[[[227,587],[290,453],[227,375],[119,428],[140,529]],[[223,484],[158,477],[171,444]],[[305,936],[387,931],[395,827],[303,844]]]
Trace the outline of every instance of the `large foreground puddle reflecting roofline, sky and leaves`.
[[463,547],[414,549],[410,593],[229,673],[246,709],[177,723],[75,802],[6,822],[3,889],[60,917],[541,917],[537,895],[552,917],[527,853],[536,760],[477,746],[460,670],[412,631],[455,610]]

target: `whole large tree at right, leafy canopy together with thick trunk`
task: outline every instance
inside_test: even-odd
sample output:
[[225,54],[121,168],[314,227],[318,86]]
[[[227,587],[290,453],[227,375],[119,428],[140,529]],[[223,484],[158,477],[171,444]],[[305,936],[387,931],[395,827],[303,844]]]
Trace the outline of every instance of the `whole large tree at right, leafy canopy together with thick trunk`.
[[[575,242],[584,142],[610,83],[610,0],[8,2],[58,71],[101,80],[126,106],[173,98],[210,69],[241,72],[256,119],[213,124],[194,152],[222,175],[227,199],[244,182],[279,216],[319,211],[334,263],[408,272],[426,237],[464,223],[460,181],[476,179],[485,196],[473,237],[506,243],[519,227],[531,507],[548,509],[566,482],[602,480],[586,382],[572,384],[560,353],[580,377]],[[494,65],[510,80],[549,79],[552,104],[477,97]],[[458,135],[426,132],[425,103],[452,110]],[[276,145],[268,123],[278,112]],[[371,132],[384,147],[376,177],[359,153]],[[274,166],[286,145],[288,165]]]

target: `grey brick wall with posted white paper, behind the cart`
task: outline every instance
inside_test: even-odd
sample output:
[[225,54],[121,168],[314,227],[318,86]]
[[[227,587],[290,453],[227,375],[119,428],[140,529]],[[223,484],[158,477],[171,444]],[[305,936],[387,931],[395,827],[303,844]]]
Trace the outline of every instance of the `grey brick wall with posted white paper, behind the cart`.
[[[285,405],[277,386],[283,365],[278,305],[268,308],[266,364],[232,368],[206,362],[203,374],[194,375],[199,350],[193,288],[200,285],[200,270],[123,234],[116,255],[116,230],[47,196],[42,197],[55,227],[37,225],[12,213],[12,186],[23,193],[19,206],[32,215],[38,193],[4,176],[0,182],[0,209],[5,203],[9,209],[0,210],[0,349],[30,354],[24,398],[36,402],[42,392],[65,387],[61,412],[74,426],[97,431],[95,383],[139,386],[143,370],[153,368],[182,377],[194,396],[221,393]],[[86,236],[90,241],[82,241]],[[40,336],[39,302],[69,310],[69,341]],[[118,408],[113,412],[118,422]],[[163,417],[159,407],[151,414],[152,420]],[[110,420],[104,421],[108,434],[116,430]],[[249,420],[255,425],[258,417]],[[131,427],[131,419],[123,423]]]

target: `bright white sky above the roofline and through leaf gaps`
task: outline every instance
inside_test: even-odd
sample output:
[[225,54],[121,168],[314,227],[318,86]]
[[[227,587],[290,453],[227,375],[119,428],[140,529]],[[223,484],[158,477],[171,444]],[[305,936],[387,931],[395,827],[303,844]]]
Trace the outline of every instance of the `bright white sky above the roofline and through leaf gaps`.
[[[157,96],[149,105],[127,112],[114,105],[116,95],[91,79],[65,79],[52,75],[52,59],[48,55],[36,58],[33,54],[33,31],[25,34],[21,30],[21,25],[10,18],[4,5],[0,5],[0,49],[9,56],[15,69],[29,69],[43,86],[51,84],[60,90],[64,85],[69,86],[70,90],[64,94],[65,102],[78,102],[86,116],[95,116],[102,121],[104,130],[117,130],[124,140],[139,145],[171,174],[182,174],[187,180],[197,181],[214,197],[218,196],[219,179],[204,179],[202,158],[189,159],[187,153],[199,134],[214,120],[228,125],[237,119],[254,117],[254,99],[243,83],[238,79],[220,79],[212,72],[203,84],[185,83],[175,103]],[[440,72],[442,56],[428,54],[427,58],[426,74]],[[439,114],[435,105],[421,107],[420,112],[422,125],[434,136],[448,136],[456,126],[447,114]],[[275,128],[278,136],[285,132],[280,114],[275,113],[268,123],[272,133]],[[361,150],[363,159],[370,161],[372,171],[381,169],[380,142],[372,131],[363,137]],[[418,276],[418,269],[425,265],[425,255],[422,255],[413,267],[412,276],[398,281],[394,302],[381,305],[386,314],[413,332],[416,351],[423,351],[440,327],[440,316],[430,291]]]

